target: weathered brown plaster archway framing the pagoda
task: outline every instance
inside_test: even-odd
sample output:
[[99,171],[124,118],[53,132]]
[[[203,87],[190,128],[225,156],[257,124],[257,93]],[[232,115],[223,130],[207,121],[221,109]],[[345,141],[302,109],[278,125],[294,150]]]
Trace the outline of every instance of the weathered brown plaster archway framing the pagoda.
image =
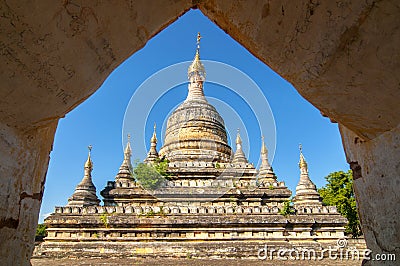
[[399,256],[396,1],[2,2],[0,257],[28,264],[58,119],[190,8],[340,125],[367,244]]

